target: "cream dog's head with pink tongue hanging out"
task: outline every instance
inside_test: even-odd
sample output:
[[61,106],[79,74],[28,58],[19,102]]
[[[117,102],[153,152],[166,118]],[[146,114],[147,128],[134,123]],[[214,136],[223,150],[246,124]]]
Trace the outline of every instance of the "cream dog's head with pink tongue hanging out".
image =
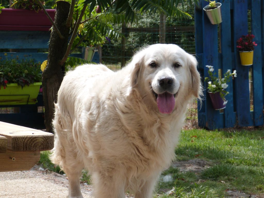
[[177,45],[150,45],[136,53],[131,64],[131,88],[163,114],[171,113],[177,101],[200,97],[197,61]]

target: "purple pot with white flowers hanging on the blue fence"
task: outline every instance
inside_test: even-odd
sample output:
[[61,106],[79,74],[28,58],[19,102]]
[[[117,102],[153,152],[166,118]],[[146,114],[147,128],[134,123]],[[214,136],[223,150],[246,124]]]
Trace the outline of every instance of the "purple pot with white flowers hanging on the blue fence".
[[[205,78],[205,82],[208,82],[208,93],[211,98],[211,102],[213,104],[213,108],[215,110],[224,109],[227,100],[225,99],[225,96],[229,93],[225,90],[225,88],[228,87],[227,82],[230,81],[230,77],[237,77],[237,71],[234,70],[233,73],[231,73],[231,70],[228,69],[227,72],[224,74],[223,78],[220,79],[216,77],[216,73],[214,72],[214,67],[210,65],[206,65],[205,67],[208,68],[208,74],[209,77]],[[214,73],[213,73],[214,72]]]

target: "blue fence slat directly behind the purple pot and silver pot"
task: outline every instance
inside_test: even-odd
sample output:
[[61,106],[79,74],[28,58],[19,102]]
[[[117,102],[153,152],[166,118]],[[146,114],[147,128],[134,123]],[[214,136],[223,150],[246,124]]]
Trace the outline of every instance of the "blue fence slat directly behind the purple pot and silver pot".
[[[202,7],[206,6],[207,4],[208,2],[202,1]],[[208,68],[206,68],[205,65],[212,65],[216,73],[218,73],[218,34],[217,25],[212,25],[210,23],[205,12],[203,12],[202,19],[204,76],[208,77]],[[223,128],[223,114],[220,114],[219,111],[213,109],[210,97],[207,92],[204,105],[206,113],[206,127],[209,129]]]

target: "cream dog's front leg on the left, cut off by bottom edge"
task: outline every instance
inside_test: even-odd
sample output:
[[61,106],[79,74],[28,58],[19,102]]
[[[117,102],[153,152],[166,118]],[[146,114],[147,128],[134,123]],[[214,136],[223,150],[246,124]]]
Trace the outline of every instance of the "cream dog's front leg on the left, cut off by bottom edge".
[[94,172],[92,181],[95,198],[125,198],[125,176],[121,170]]

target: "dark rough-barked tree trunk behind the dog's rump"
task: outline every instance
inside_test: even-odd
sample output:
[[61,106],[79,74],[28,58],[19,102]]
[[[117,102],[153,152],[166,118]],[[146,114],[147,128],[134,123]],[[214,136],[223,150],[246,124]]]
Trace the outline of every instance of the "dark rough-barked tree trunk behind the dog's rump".
[[53,132],[52,119],[54,114],[54,102],[57,101],[57,93],[65,74],[65,64],[60,65],[68,45],[70,27],[65,23],[70,10],[70,4],[65,1],[58,1],[55,14],[55,24],[64,39],[60,39],[57,32],[53,30],[50,35],[48,63],[42,74],[43,101],[45,107],[45,126],[47,132]]

